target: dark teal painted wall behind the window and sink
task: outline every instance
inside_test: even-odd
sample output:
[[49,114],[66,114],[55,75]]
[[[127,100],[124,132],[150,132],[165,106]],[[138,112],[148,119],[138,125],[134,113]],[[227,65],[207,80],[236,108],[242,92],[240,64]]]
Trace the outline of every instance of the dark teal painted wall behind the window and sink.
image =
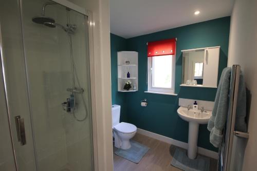
[[[179,86],[181,84],[182,73],[181,50],[221,46],[218,70],[219,79],[223,68],[227,66],[229,28],[230,17],[223,17],[127,39],[126,47],[124,47],[123,50],[138,51],[139,90],[137,92],[124,93],[124,99],[121,104],[122,107],[126,108],[126,122],[135,124],[138,128],[155,132],[156,134],[188,142],[188,122],[181,120],[176,112],[178,108],[178,98],[214,101],[216,88]],[[147,90],[146,42],[170,39],[173,37],[177,37],[175,93],[177,93],[178,96],[145,93],[144,91]],[[111,44],[113,43],[111,39]],[[111,58],[117,58],[117,54],[116,56],[112,55]],[[117,65],[117,63],[114,65]],[[113,91],[117,91],[117,87],[113,86],[112,88]],[[142,99],[148,100],[149,103],[147,107],[140,106]],[[207,130],[207,125],[200,125],[198,146],[217,151],[209,142],[209,134],[210,132]]]

